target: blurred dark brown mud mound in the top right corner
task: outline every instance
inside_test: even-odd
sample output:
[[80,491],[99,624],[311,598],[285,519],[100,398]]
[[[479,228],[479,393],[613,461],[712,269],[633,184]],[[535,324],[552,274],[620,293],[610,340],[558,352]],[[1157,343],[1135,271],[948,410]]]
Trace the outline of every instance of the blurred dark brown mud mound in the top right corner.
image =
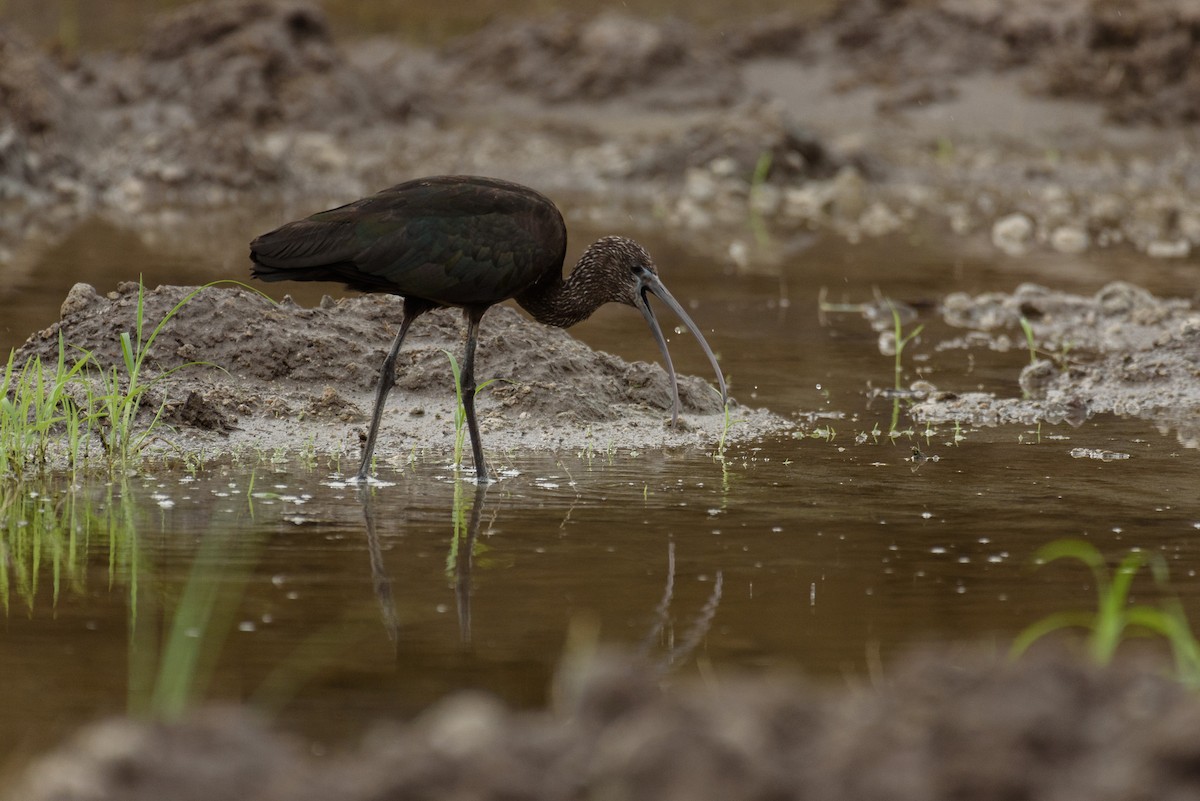
[[[733,53],[820,50],[794,18],[772,23],[731,36]],[[1198,29],[1188,0],[854,0],[820,25],[854,74],[844,85],[888,88],[884,108],[953,97],[964,74],[1030,67],[1039,92],[1100,101],[1120,122],[1171,126],[1200,119]]]

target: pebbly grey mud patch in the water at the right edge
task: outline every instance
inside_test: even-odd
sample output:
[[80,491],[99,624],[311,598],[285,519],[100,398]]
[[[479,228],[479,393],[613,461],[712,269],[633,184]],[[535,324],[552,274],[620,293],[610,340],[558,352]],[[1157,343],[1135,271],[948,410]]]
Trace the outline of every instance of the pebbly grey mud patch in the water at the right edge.
[[1024,398],[942,395],[913,408],[919,420],[1078,424],[1092,415],[1111,412],[1176,428],[1183,442],[1200,441],[1195,423],[1200,411],[1200,312],[1188,301],[1159,300],[1120,282],[1091,297],[1025,284],[1012,295],[950,295],[943,302],[943,314],[950,325],[985,336],[967,336],[942,348],[1020,348],[1024,318],[1038,349],[1049,356],[1021,372]]

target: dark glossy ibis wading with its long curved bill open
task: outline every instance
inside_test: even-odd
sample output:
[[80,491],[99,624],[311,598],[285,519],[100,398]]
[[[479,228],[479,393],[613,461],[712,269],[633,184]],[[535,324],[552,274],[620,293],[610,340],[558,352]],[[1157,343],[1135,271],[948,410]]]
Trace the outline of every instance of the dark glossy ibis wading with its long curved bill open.
[[467,318],[462,399],[475,457],[475,474],[488,481],[475,421],[475,342],[479,321],[494,303],[516,299],[539,323],[568,327],[604,303],[628,303],[650,326],[671,377],[671,422],[679,417],[679,386],[662,330],[647,294],[688,325],[716,371],[722,402],[725,378],[703,335],[659,281],[658,269],[637,242],[606,236],[594,242],[563,279],[566,224],[545,195],[491,177],[450,175],[407,181],[344,206],[288,223],[250,243],[251,275],[263,281],[337,281],[367,293],[404,299],[400,332],[379,373],[371,430],[359,468],[367,477],[384,401],[396,380],[396,355],[418,317],[457,306]]

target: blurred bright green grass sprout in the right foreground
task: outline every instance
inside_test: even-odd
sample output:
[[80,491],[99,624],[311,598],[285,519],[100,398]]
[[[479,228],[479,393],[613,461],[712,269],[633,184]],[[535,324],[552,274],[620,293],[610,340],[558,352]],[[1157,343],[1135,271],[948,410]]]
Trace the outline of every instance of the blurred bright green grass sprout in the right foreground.
[[1134,577],[1148,567],[1154,583],[1168,586],[1166,561],[1159,554],[1130,550],[1109,572],[1103,554],[1082,540],[1058,540],[1042,547],[1036,560],[1039,565],[1074,559],[1082,562],[1096,583],[1094,612],[1058,612],[1043,618],[1022,631],[1013,643],[1012,655],[1018,657],[1043,637],[1064,628],[1090,632],[1087,650],[1098,664],[1109,664],[1117,648],[1134,634],[1157,634],[1166,639],[1175,658],[1177,677],[1189,687],[1200,688],[1200,642],[1188,624],[1183,604],[1175,596],[1166,596],[1156,604],[1129,603]]

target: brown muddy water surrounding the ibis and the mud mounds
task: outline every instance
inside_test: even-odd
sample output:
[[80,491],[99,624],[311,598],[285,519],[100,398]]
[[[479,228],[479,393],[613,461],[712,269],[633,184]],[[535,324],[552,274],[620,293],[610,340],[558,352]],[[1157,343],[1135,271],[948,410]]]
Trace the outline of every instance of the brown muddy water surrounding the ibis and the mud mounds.
[[[52,321],[74,281],[242,276],[239,225],[203,252],[85,227],[42,253],[26,273],[36,281],[11,287],[2,344]],[[572,225],[576,247],[598,233]],[[1030,566],[1061,537],[1112,555],[1162,552],[1200,614],[1195,451],[1114,418],[943,427],[893,442],[872,433],[892,412],[869,392],[892,383],[877,333],[860,315],[816,312],[822,287],[830,301],[868,301],[878,288],[918,307],[1034,278],[1085,293],[1124,278],[1170,295],[1174,267],[1118,254],[989,263],[918,234],[854,247],[798,239],[785,266],[739,271],[725,254],[635,233],[712,329],[731,391],[794,415],[799,436],[732,448],[724,463],[613,454],[604,442],[514,454],[520,475],[478,498],[454,481],[448,454],[420,450],[364,498],[337,480],[352,465],[300,444],[194,472],[155,464],[125,482],[41,487],[14,499],[4,526],[0,753],[19,760],[82,721],[144,706],[193,570],[223,598],[208,624],[181,630],[212,662],[203,695],[253,699],[318,751],[462,687],[538,704],[570,637],[643,649],[684,671],[786,667],[834,681],[930,638],[1004,649],[1042,615],[1091,603],[1081,568]],[[296,289],[314,293],[302,302],[322,290]],[[925,317],[906,380],[1018,392],[1024,354],[938,353]],[[628,309],[605,309],[577,335],[658,357]],[[704,374],[688,338],[673,339],[677,366]],[[935,458],[918,465],[913,447]]]

